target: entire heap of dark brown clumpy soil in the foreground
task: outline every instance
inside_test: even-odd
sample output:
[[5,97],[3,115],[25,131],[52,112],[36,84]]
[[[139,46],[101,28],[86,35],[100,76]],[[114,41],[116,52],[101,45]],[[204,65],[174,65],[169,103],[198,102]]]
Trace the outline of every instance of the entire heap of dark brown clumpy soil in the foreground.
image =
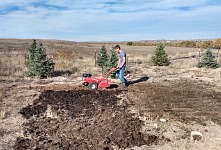
[[[15,149],[113,149],[161,144],[165,139],[144,135],[142,122],[117,105],[120,91],[45,91],[21,110],[29,119]],[[44,113],[51,106],[56,117]],[[34,116],[34,117],[32,117]]]

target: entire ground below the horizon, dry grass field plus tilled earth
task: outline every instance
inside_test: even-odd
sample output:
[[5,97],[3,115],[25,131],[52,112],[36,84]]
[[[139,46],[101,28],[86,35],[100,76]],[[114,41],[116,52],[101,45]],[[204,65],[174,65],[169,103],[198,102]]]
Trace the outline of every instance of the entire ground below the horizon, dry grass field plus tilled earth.
[[[171,64],[158,67],[152,46],[37,41],[55,62],[51,78],[26,77],[32,40],[0,39],[0,150],[221,149],[221,69],[197,68],[197,48],[166,47]],[[128,88],[84,87],[82,73],[101,76],[95,51],[115,44],[128,56]]]

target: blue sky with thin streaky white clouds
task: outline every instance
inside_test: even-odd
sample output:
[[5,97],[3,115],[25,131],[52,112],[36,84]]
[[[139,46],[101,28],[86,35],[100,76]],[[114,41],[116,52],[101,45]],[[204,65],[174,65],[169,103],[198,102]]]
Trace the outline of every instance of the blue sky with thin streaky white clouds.
[[221,0],[5,0],[0,38],[71,41],[221,37]]

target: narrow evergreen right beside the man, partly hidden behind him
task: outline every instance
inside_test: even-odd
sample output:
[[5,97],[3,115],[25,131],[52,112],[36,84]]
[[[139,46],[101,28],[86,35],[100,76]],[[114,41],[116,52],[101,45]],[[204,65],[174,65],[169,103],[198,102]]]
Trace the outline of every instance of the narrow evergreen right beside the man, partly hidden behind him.
[[[117,66],[117,61],[118,61],[118,57],[117,57],[117,53],[115,52],[115,50],[111,50],[110,56],[109,56],[109,60],[107,62],[106,68],[105,68],[105,72],[110,71],[111,68],[116,67]],[[115,78],[116,72],[112,72],[110,74],[111,78]]]

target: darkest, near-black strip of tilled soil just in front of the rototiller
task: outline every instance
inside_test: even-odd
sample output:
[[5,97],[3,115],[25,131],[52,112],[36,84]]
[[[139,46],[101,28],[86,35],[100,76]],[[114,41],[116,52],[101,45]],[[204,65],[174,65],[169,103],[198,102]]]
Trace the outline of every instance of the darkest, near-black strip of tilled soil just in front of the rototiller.
[[47,106],[51,105],[56,111],[68,110],[68,114],[72,118],[82,115],[90,117],[97,115],[100,108],[103,110],[116,106],[118,100],[115,96],[116,94],[117,92],[110,94],[110,92],[107,91],[48,90],[42,93],[39,99],[34,101],[33,105],[23,108],[20,112],[27,119],[32,116],[39,117],[47,110]]

